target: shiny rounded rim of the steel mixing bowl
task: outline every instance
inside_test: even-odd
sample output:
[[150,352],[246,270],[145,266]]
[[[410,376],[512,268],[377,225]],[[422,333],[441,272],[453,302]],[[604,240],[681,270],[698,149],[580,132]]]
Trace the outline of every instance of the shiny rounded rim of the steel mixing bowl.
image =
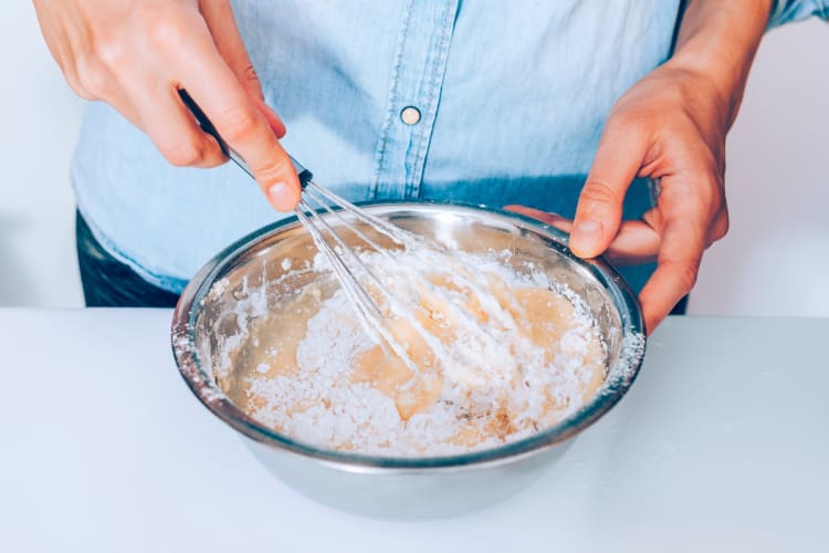
[[[441,457],[382,457],[375,455],[355,453],[339,450],[325,449],[303,441],[294,440],[283,434],[267,428],[258,422],[242,409],[233,405],[230,399],[219,389],[218,385],[201,368],[198,352],[196,351],[195,330],[200,312],[198,307],[201,300],[207,296],[223,269],[231,264],[245,250],[256,243],[291,229],[301,226],[296,216],[285,217],[271,225],[254,230],[234,241],[219,253],[217,253],[204,267],[189,281],[181,293],[172,314],[170,337],[172,354],[179,368],[181,377],[190,390],[210,410],[225,424],[246,436],[275,449],[286,452],[298,453],[303,457],[314,459],[324,465],[329,465],[349,472],[411,472],[429,470],[433,472],[454,471],[468,468],[483,468],[511,463],[520,459],[541,453],[554,446],[573,438],[584,429],[592,425],[610,410],[627,393],[632,385],[644,356],[644,323],[641,307],[636,294],[632,292],[625,279],[602,257],[584,260],[571,253],[567,242],[569,236],[555,227],[546,225],[537,219],[492,208],[490,206],[474,205],[457,201],[364,201],[357,204],[369,210],[388,209],[447,209],[460,211],[473,211],[479,215],[494,215],[508,220],[522,230],[533,232],[547,241],[556,244],[559,253],[565,254],[576,263],[589,270],[606,286],[617,307],[622,326],[622,344],[627,336],[636,336],[641,340],[641,351],[632,364],[627,368],[625,378],[613,386],[607,386],[597,393],[587,404],[559,422],[541,430],[532,436],[511,441],[494,448],[475,450],[464,453]],[[196,307],[196,309],[195,309]],[[617,362],[621,362],[620,358]]]

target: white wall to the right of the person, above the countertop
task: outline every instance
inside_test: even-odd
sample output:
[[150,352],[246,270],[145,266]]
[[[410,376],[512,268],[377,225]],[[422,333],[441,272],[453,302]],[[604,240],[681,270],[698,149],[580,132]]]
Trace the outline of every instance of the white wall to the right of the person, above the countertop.
[[829,316],[829,25],[768,33],[727,148],[731,230],[689,311]]

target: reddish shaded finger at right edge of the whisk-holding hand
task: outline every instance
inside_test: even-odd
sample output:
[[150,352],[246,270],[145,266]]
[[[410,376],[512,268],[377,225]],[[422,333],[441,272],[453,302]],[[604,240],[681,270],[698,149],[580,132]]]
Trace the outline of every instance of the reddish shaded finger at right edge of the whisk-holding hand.
[[256,108],[265,116],[276,137],[282,138],[285,136],[285,124],[282,123],[276,112],[265,104],[262,83],[253,67],[242,35],[239,33],[230,2],[227,0],[202,0],[200,10],[210,34],[213,36],[219,54],[233,71]]

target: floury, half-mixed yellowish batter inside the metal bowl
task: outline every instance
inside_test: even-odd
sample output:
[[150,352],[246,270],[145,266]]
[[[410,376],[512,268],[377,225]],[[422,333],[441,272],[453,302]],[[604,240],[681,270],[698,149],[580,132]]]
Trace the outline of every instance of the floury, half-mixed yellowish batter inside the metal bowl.
[[387,457],[454,455],[521,439],[596,393],[605,349],[566,288],[518,274],[497,255],[464,253],[449,268],[416,267],[406,255],[363,254],[405,305],[386,307],[386,328],[402,357],[364,332],[323,270],[328,278],[249,322],[234,346],[233,373],[219,378],[224,392],[293,439]]

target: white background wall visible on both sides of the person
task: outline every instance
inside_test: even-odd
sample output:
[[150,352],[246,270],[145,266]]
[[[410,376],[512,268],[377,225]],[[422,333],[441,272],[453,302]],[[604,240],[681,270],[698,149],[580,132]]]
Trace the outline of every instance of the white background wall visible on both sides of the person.
[[[83,103],[31,2],[3,6],[0,67],[0,305],[80,306],[69,163]],[[726,181],[732,230],[707,253],[690,312],[829,316],[826,24],[766,38],[728,140]]]

